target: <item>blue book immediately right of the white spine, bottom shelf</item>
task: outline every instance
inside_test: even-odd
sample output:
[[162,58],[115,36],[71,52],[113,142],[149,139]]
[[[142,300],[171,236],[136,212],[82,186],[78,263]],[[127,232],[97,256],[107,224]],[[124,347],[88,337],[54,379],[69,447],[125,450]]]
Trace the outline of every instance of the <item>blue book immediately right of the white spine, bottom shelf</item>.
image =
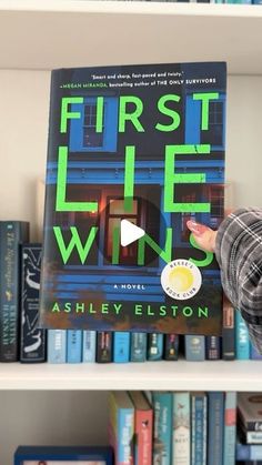
[[194,465],[206,465],[206,401],[205,393],[191,393],[191,463]]

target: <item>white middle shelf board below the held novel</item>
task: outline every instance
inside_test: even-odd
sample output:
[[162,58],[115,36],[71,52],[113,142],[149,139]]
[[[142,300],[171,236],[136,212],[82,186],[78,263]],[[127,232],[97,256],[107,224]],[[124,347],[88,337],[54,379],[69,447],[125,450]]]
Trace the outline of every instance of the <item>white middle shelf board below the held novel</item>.
[[258,361],[141,364],[0,365],[0,390],[11,391],[261,391]]

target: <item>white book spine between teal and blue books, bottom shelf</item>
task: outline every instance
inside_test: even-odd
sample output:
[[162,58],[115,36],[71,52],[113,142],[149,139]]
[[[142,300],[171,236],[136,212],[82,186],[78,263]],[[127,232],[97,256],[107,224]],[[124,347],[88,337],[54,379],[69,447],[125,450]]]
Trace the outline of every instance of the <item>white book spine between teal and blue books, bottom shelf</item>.
[[190,394],[173,394],[172,455],[174,464],[190,465]]

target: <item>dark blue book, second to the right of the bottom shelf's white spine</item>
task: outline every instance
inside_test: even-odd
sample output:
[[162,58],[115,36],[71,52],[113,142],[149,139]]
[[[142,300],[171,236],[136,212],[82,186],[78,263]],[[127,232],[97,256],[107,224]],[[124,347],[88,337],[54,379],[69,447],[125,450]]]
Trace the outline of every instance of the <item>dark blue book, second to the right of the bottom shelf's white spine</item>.
[[223,465],[224,393],[209,392],[208,465]]

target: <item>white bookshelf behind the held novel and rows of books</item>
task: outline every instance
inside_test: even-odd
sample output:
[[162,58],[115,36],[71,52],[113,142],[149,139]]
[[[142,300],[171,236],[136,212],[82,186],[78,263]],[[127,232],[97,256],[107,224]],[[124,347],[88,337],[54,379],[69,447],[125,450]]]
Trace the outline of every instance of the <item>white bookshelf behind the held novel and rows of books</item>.
[[[226,180],[233,206],[261,205],[261,55],[255,6],[2,0],[0,219],[29,220],[38,239],[50,70],[118,63],[228,61]],[[261,373],[260,362],[0,364],[0,463],[18,444],[105,442],[109,390],[261,391]]]

